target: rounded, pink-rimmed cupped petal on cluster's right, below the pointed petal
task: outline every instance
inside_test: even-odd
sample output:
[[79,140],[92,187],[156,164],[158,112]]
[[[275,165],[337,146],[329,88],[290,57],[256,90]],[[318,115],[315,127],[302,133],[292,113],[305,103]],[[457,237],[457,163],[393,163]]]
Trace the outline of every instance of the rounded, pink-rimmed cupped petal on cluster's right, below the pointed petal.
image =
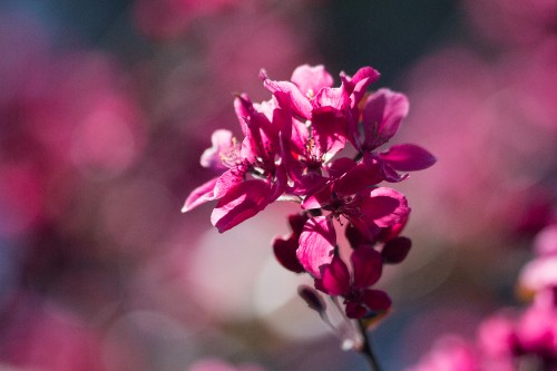
[[368,221],[379,227],[390,227],[400,223],[410,213],[404,195],[392,188],[374,188],[369,195],[359,194],[359,197],[362,197],[360,204],[362,213]]

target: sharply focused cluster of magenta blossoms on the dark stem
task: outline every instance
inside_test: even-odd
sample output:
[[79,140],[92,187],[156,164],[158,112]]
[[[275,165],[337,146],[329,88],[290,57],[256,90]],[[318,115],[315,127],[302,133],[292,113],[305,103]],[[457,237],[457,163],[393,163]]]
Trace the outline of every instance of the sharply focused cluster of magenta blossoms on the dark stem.
[[[235,98],[244,139],[223,129],[213,134],[201,163],[224,173],[194,189],[183,212],[217,201],[211,221],[225,232],[277,199],[296,202],[301,212],[289,217],[291,235],[273,242],[278,262],[342,297],[351,319],[388,310],[387,293],[370,286],[383,263],[399,263],[410,250],[410,240],[400,236],[410,207],[404,195],[379,184],[401,182],[405,172],[436,162],[412,144],[380,149],[407,116],[407,98],[389,89],[367,94],[379,78],[370,67],[341,74],[340,87],[323,66],[300,66],[290,81],[265,71],[260,77],[272,98]],[[339,254],[340,227],[353,250],[351,266]]]

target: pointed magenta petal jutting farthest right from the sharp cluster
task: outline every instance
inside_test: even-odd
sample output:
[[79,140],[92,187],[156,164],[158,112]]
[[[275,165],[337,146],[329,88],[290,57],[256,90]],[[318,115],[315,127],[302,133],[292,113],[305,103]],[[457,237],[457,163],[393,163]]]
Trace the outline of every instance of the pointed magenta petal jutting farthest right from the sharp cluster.
[[422,170],[437,162],[428,150],[413,144],[392,146],[379,156],[392,168],[401,172]]

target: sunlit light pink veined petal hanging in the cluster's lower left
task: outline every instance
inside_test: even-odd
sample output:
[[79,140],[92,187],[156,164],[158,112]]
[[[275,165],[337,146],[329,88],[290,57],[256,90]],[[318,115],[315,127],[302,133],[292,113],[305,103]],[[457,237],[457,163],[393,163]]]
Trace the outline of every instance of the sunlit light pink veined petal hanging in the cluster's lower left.
[[321,277],[320,269],[331,263],[335,244],[333,222],[325,216],[313,217],[305,223],[300,235],[297,260],[311,275]]

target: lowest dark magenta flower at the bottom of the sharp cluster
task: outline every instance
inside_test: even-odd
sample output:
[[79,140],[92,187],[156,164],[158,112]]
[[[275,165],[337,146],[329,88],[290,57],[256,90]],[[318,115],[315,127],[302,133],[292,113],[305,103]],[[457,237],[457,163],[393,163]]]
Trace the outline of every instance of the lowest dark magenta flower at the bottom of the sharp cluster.
[[353,251],[350,261],[352,275],[346,264],[335,255],[322,269],[321,279],[315,280],[315,287],[332,296],[341,295],[346,304],[346,315],[351,319],[388,310],[391,300],[387,293],[369,289],[381,276],[381,255],[373,248],[361,247]]

